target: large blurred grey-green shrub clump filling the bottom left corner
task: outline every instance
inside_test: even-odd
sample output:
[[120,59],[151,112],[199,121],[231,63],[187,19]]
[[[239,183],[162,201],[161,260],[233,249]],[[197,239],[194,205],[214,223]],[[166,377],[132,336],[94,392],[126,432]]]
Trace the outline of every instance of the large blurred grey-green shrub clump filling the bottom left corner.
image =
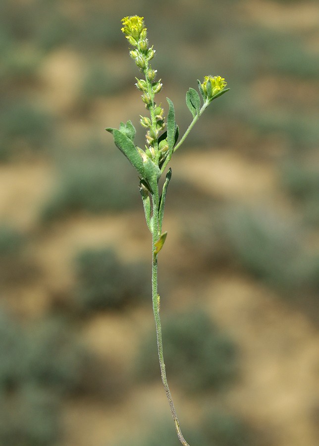
[[0,357],[0,444],[60,444],[62,397],[80,386],[89,359],[69,324],[22,328],[1,310]]

